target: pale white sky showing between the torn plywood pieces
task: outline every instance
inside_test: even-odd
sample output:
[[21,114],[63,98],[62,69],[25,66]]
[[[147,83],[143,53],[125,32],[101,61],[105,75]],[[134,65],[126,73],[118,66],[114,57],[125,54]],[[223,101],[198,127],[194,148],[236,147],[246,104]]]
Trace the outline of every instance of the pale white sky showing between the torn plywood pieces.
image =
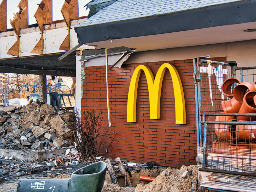
[[[36,19],[34,18],[34,14],[38,8],[38,3],[42,0],[28,0],[28,25],[35,24]],[[84,5],[91,0],[78,0],[78,9],[79,9],[79,17],[86,16],[89,13],[89,9],[85,11]],[[1,0],[0,0],[1,2]],[[63,19],[63,16],[60,12],[60,9],[65,0],[53,0],[53,21]],[[20,0],[7,0],[7,28],[12,28],[10,24],[10,19],[13,20],[13,13],[19,12],[17,8]]]

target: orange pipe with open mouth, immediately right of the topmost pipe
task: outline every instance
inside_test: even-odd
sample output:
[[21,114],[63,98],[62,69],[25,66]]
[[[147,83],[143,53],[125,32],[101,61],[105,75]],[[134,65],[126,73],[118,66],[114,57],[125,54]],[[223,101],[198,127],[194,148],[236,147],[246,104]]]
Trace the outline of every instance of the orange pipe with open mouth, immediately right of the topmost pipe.
[[239,102],[243,102],[243,97],[248,91],[256,91],[256,85],[248,82],[240,83],[235,86],[233,90],[233,96]]

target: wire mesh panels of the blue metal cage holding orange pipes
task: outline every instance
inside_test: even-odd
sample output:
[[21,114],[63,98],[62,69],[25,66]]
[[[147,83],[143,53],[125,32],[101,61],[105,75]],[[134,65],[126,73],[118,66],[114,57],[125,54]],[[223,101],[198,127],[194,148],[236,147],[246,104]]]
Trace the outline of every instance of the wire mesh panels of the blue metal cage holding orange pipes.
[[[243,82],[253,83],[256,80],[256,69],[242,68],[241,73],[240,70],[237,70],[236,73],[238,79],[241,78]],[[205,116],[205,122],[230,122],[230,125],[207,123],[205,167],[225,171],[256,172],[256,134],[255,136],[253,134],[256,125],[235,125],[237,122],[241,124],[252,122],[256,118],[246,117],[246,119],[240,115],[240,121],[238,121],[238,116],[209,114],[223,113],[222,102],[231,99],[222,94],[221,85],[226,79],[233,77],[232,67],[202,63],[200,75],[201,110],[199,113],[201,122],[203,113],[208,113]],[[202,124],[202,130],[204,130],[204,124]]]

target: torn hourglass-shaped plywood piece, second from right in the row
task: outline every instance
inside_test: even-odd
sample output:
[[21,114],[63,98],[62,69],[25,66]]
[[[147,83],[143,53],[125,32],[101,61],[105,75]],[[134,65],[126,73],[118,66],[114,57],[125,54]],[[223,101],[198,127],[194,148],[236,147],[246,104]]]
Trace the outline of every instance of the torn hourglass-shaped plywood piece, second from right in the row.
[[43,31],[44,25],[50,24],[53,22],[53,1],[52,0],[43,0],[38,4],[36,13],[34,14],[36,18],[39,30],[41,32],[41,37],[37,42],[36,46],[32,49],[30,53],[43,54],[44,50],[44,38]]

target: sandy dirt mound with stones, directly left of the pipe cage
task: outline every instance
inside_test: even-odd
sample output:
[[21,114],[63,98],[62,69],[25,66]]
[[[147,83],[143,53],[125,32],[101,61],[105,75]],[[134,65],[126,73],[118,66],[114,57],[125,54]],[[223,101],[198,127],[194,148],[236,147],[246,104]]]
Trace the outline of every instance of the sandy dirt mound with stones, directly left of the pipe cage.
[[[187,172],[186,177],[182,177],[184,172]],[[191,183],[193,180],[197,181],[197,166],[190,165],[188,167],[182,166],[181,169],[167,168],[156,179],[149,184],[138,184],[135,192],[186,192],[191,191]],[[199,186],[197,186],[199,191]]]

